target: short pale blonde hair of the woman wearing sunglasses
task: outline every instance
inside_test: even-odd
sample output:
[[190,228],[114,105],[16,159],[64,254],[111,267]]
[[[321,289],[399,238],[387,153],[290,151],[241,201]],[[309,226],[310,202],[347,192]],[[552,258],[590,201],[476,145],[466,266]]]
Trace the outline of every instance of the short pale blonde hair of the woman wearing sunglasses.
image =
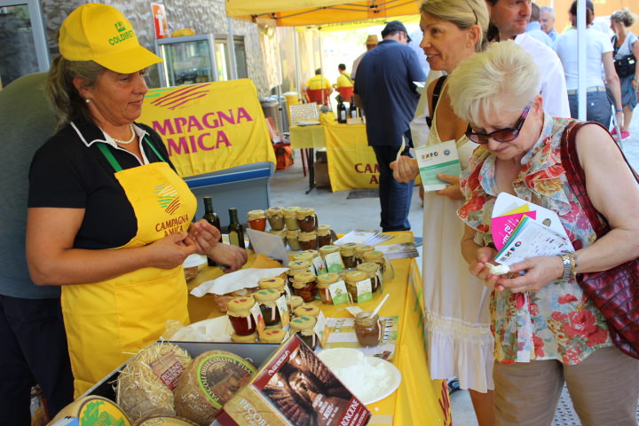
[[509,40],[464,59],[448,78],[455,115],[486,122],[494,111],[518,111],[540,94],[541,71],[533,57]]

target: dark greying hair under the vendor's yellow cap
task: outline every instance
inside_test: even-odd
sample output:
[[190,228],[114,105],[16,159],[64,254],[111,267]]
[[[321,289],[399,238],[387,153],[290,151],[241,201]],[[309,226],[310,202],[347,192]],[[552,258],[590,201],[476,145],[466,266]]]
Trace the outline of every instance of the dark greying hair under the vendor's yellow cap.
[[67,60],[62,56],[53,60],[44,91],[56,114],[58,130],[80,117],[92,121],[89,107],[73,81],[78,77],[83,80],[84,87],[93,87],[105,70],[92,60]]

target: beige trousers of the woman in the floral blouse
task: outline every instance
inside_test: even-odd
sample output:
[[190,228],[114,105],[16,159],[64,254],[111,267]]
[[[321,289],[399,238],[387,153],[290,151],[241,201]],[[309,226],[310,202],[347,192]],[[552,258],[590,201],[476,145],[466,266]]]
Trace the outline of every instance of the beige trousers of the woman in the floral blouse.
[[616,347],[595,351],[576,366],[544,361],[495,362],[497,426],[546,426],[568,386],[582,426],[636,426],[639,359]]

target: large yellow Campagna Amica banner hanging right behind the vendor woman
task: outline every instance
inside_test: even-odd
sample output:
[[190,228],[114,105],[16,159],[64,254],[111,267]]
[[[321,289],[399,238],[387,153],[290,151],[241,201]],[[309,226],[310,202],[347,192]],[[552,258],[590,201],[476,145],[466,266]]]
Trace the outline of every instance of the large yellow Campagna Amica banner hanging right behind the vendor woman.
[[275,162],[256,87],[248,79],[152,89],[139,122],[160,133],[182,177]]

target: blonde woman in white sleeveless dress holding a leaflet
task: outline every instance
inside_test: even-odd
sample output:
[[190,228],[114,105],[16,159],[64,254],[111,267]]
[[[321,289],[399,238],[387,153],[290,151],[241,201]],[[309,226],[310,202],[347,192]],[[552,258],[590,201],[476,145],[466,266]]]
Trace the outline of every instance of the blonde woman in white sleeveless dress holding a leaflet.
[[[430,69],[454,72],[461,60],[488,43],[489,22],[485,0],[426,0],[421,7],[420,46]],[[439,88],[433,106],[435,87]],[[477,146],[464,135],[468,122],[454,114],[446,81],[434,81],[422,96],[429,101],[428,138],[415,138],[416,146],[454,140],[462,167]],[[411,182],[418,174],[417,161],[400,157],[391,163],[399,182]],[[426,305],[426,338],[430,377],[457,377],[461,389],[468,389],[480,426],[493,424],[493,335],[488,315],[488,291],[472,276],[461,256],[459,241],[463,224],[455,212],[463,195],[459,176],[440,176],[450,184],[424,194],[423,294]],[[435,232],[435,230],[438,230]]]

